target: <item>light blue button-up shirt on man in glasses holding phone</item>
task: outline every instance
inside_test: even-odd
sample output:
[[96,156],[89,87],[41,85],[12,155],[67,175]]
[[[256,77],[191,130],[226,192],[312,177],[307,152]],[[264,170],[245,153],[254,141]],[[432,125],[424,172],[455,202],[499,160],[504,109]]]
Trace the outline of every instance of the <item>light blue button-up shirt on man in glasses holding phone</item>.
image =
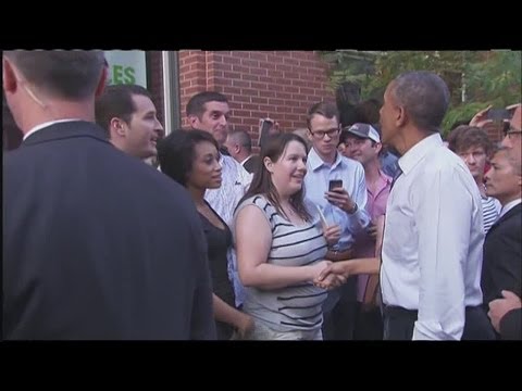
[[[318,206],[321,207],[328,224],[338,224],[341,228],[340,239],[335,249],[347,250],[353,245],[355,235],[365,229],[370,223],[370,215],[366,212],[366,184],[364,180],[364,168],[355,160],[341,156],[337,153],[335,162],[330,165],[323,162],[312,148],[308,153],[307,175],[304,176],[304,202],[308,212],[313,217],[313,223],[319,226],[321,223]],[[341,179],[343,188],[350,194],[358,210],[352,215],[331,204],[324,193],[328,191],[331,179]]]

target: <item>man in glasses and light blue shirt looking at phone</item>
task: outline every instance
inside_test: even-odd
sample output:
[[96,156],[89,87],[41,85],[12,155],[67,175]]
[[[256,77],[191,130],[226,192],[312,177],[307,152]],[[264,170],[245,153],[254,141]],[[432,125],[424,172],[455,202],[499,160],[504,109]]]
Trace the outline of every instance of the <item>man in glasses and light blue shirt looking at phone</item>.
[[[304,177],[306,202],[318,224],[321,224],[321,210],[327,226],[339,225],[341,228],[340,239],[330,249],[326,258],[349,260],[352,257],[355,235],[366,229],[370,224],[365,211],[364,168],[361,163],[337,152],[340,126],[339,112],[334,104],[320,102],[312,105],[308,112],[307,125],[312,149],[308,154],[308,173]],[[349,278],[343,287],[328,292],[323,313],[325,340],[352,339],[355,277]]]

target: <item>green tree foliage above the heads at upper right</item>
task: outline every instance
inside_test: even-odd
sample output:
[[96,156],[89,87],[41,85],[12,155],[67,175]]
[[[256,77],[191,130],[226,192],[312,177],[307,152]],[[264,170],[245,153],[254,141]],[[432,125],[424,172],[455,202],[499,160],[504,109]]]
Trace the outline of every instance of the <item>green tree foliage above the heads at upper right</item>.
[[382,100],[388,83],[400,73],[437,73],[451,92],[450,110],[443,123],[445,133],[455,122],[471,118],[488,104],[504,108],[521,101],[521,51],[343,50],[322,55],[331,65],[330,88],[335,90],[343,81],[356,81],[361,86],[362,99]]

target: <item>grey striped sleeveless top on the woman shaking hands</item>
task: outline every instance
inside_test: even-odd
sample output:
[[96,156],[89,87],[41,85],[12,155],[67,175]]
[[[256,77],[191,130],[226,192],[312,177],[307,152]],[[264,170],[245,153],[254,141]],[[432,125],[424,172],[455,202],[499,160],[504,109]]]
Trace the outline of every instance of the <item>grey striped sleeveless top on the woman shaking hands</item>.
[[[272,228],[269,264],[306,266],[324,260],[326,240],[314,225],[294,225],[278,214],[263,195],[245,200],[236,214],[251,204],[264,213]],[[246,288],[243,310],[275,331],[314,331],[323,323],[322,304],[325,299],[326,291],[310,282],[275,290]]]

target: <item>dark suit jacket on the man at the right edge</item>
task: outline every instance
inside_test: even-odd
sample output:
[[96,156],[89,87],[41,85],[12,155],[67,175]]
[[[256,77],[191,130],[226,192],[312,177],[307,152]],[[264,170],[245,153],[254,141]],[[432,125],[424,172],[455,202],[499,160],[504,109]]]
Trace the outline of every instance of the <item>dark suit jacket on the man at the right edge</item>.
[[522,204],[500,217],[484,241],[482,292],[484,306],[502,298],[502,290],[521,295],[522,290]]

